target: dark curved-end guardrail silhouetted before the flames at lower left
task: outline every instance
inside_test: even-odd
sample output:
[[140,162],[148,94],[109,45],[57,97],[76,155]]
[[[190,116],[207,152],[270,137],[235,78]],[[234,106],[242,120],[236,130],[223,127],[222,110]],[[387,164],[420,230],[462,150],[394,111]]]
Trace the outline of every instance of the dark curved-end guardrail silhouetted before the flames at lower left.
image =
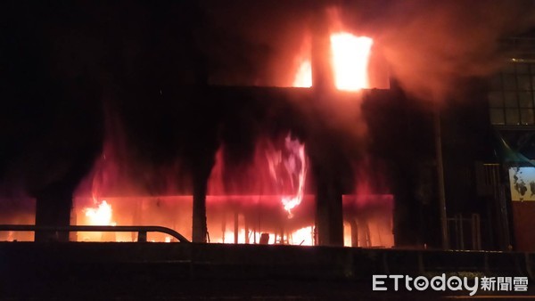
[[0,224],[2,231],[19,232],[137,232],[137,241],[146,242],[147,232],[162,232],[176,238],[179,242],[190,242],[182,234],[161,226],[108,226],[108,225],[69,225],[37,226],[35,224]]

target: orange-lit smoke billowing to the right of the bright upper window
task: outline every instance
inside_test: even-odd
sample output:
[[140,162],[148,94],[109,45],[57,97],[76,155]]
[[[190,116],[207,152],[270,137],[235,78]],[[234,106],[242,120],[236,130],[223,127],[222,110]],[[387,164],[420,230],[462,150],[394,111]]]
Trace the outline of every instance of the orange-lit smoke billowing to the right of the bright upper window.
[[[532,1],[403,1],[384,7],[377,41],[393,76],[424,100],[455,97],[457,83],[503,65],[499,40],[535,25]],[[385,21],[386,20],[386,21]]]

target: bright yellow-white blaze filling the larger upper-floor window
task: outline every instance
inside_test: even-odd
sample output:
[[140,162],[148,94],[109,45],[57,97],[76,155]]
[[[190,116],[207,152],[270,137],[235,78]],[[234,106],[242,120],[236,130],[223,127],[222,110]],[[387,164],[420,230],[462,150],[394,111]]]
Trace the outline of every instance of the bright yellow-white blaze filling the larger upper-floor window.
[[341,32],[331,35],[334,85],[339,90],[357,91],[369,86],[367,65],[374,41]]

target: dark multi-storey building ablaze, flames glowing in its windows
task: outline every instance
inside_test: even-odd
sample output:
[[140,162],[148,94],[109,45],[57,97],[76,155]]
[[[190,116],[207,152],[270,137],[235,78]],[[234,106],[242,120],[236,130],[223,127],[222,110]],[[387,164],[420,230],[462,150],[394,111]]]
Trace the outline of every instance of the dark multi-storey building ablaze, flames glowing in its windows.
[[[477,35],[450,29],[476,6],[13,4],[0,48],[2,206],[13,212],[0,218],[158,224],[195,242],[439,246],[430,112],[509,30],[469,43]],[[501,7],[490,6],[478,18]]]

